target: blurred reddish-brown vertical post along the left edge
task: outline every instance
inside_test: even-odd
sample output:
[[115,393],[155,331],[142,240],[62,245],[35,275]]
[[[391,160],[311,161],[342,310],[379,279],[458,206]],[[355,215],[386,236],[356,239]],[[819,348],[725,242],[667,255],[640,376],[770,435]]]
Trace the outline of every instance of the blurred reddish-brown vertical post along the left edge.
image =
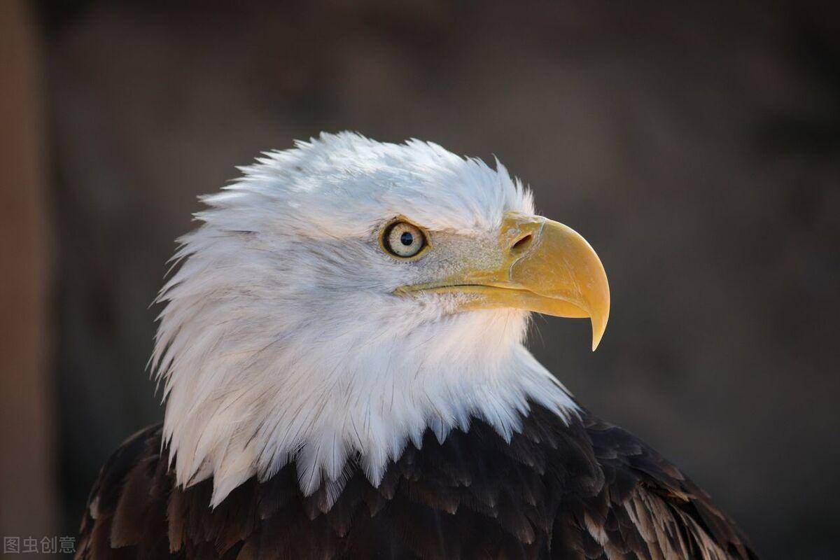
[[29,4],[0,3],[0,536],[55,535],[47,205]]

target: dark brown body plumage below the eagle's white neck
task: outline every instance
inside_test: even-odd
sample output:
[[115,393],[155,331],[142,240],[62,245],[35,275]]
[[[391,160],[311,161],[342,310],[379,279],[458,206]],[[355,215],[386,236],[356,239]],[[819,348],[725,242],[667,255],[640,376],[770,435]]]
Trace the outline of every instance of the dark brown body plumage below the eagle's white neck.
[[378,488],[356,469],[332,507],[294,464],[217,508],[212,480],[176,487],[160,427],[94,485],[78,558],[755,558],[738,528],[638,438],[540,406],[505,442],[484,422],[408,445]]

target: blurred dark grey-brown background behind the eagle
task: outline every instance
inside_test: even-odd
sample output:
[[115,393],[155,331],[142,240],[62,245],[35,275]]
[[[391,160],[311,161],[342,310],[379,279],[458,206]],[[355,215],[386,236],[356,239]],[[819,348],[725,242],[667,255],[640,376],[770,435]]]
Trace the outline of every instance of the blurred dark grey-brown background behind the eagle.
[[[0,8],[23,37],[9,52],[31,55],[18,71],[34,78],[8,83],[34,109],[8,114],[38,139],[5,134],[35,152],[21,181],[40,186],[27,223],[45,239],[26,252],[38,280],[18,283],[36,314],[4,307],[7,325],[42,317],[33,348],[13,349],[43,383],[2,395],[37,417],[4,421],[35,451],[4,467],[30,529],[7,515],[0,530],[72,534],[108,454],[162,418],[149,305],[196,196],[260,150],[352,129],[498,156],[591,241],[612,287],[596,353],[583,323],[538,317],[538,359],[684,468],[765,557],[836,557],[832,3],[236,4]],[[3,297],[19,301],[29,269],[7,253]],[[49,495],[15,494],[27,482]]]

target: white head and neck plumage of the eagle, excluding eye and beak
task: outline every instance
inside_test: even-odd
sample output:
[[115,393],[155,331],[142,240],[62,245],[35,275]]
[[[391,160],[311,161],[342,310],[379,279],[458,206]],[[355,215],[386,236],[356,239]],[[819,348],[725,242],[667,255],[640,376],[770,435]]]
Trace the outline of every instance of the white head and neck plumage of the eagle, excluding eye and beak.
[[[504,212],[533,213],[501,164],[341,133],[241,170],[202,199],[159,297],[153,367],[179,484],[212,476],[218,505],[295,462],[305,494],[334,496],[356,465],[379,484],[427,428],[443,441],[475,416],[510,438],[528,399],[575,411],[522,346],[527,312],[453,314],[445,297],[392,293],[491,247]],[[377,233],[396,216],[442,250],[385,254]]]

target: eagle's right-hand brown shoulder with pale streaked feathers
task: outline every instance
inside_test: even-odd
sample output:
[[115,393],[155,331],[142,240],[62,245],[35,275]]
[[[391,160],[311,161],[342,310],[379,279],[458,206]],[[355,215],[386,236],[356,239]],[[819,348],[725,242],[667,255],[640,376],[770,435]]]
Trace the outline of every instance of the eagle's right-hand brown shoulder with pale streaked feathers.
[[638,437],[584,412],[604,486],[575,519],[588,557],[757,558],[746,536],[679,468]]

